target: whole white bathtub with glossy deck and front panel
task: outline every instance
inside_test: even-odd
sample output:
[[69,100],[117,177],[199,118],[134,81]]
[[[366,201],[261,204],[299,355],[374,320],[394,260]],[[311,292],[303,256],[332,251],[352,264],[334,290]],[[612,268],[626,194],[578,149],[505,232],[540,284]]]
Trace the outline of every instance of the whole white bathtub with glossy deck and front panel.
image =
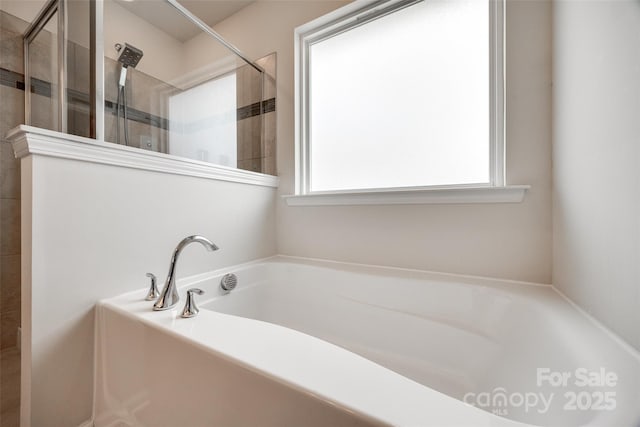
[[194,285],[192,319],[101,303],[96,427],[640,426],[640,356],[550,286],[285,257]]

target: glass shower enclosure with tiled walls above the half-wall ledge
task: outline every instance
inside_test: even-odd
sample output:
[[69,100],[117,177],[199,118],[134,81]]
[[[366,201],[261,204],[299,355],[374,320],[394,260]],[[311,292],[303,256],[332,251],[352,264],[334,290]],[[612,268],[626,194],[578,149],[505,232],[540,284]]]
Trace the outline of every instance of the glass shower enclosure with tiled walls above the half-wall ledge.
[[275,55],[249,60],[176,0],[51,0],[24,52],[26,124],[276,173]]

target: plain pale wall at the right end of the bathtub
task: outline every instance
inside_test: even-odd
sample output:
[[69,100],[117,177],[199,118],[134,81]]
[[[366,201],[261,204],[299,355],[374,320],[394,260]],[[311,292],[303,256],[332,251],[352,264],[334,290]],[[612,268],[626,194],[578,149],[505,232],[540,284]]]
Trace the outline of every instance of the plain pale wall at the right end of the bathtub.
[[640,349],[640,2],[554,5],[553,283]]

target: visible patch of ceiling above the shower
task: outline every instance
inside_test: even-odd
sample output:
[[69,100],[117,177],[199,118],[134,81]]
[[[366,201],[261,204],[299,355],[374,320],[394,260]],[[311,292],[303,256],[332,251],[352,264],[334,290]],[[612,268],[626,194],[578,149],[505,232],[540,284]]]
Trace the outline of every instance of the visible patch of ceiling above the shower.
[[[181,42],[202,31],[187,21],[173,6],[158,0],[115,0],[129,12],[139,16]],[[210,27],[227,19],[255,0],[178,0],[186,9]]]

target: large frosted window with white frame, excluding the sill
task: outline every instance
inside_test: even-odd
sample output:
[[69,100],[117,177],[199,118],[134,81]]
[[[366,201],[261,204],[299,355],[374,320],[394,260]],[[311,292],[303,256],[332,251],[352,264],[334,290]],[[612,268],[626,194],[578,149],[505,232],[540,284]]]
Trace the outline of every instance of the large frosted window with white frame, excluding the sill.
[[500,0],[355,2],[296,31],[297,194],[504,185]]

